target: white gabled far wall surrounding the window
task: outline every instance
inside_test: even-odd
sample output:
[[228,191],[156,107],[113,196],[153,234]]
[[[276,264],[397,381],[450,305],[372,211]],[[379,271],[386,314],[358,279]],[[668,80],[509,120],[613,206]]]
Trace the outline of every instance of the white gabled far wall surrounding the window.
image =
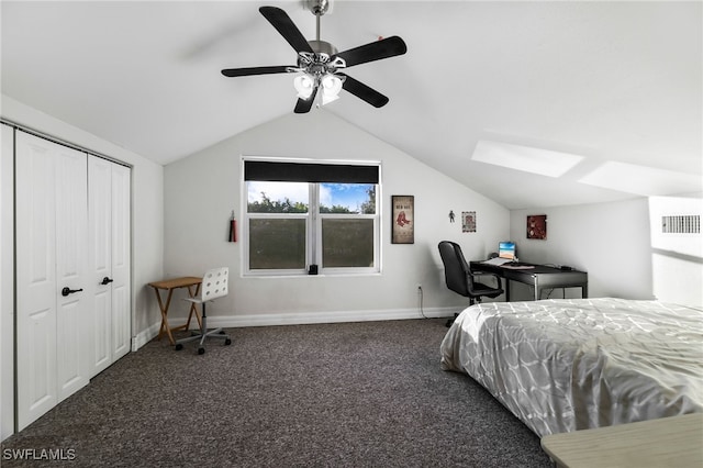
[[[440,151],[437,148],[437,157]],[[242,277],[242,243],[226,242],[226,226],[232,210],[243,210],[243,155],[381,161],[382,272]],[[252,129],[169,164],[164,177],[166,277],[230,267],[230,296],[209,308],[213,325],[420,317],[417,283],[423,286],[426,314],[451,314],[468,301],[446,289],[437,243],[453,239],[461,244],[467,257],[486,258],[509,232],[505,208],[324,110],[286,115]],[[412,245],[390,243],[392,194],[415,197]],[[450,210],[457,213],[454,224],[449,223]],[[477,212],[477,233],[461,233],[461,211]],[[169,311],[175,319],[183,317],[187,310],[177,296]]]

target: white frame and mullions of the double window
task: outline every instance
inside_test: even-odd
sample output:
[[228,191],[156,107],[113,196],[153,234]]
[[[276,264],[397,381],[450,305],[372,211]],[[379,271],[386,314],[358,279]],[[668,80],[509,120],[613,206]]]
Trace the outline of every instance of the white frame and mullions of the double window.
[[[298,163],[298,164],[324,164],[324,165],[354,165],[375,166],[378,168],[378,182],[376,183],[376,213],[375,214],[341,214],[320,213],[320,185],[327,182],[303,182],[308,183],[309,203],[308,213],[249,213],[248,208],[248,180],[245,180],[246,161],[271,161],[271,163]],[[291,158],[268,158],[268,157],[243,157],[241,170],[242,187],[242,227],[239,236],[242,239],[242,274],[245,277],[301,277],[314,276],[309,274],[310,265],[317,265],[317,276],[367,276],[379,275],[381,272],[381,235],[382,235],[382,213],[381,213],[381,163],[370,160],[342,160],[342,159],[291,159]],[[334,181],[332,181],[334,183]],[[344,182],[349,183],[349,182]],[[304,268],[289,269],[252,269],[249,268],[249,220],[252,219],[305,219],[305,266]],[[323,265],[323,235],[322,222],[326,219],[371,219],[373,220],[373,266],[372,267],[324,267]]]

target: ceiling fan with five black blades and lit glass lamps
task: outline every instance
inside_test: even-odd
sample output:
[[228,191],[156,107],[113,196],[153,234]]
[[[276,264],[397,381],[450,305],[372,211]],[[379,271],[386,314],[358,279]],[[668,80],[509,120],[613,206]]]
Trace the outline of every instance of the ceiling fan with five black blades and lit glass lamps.
[[322,94],[322,103],[326,104],[337,99],[342,89],[362,99],[369,104],[380,108],[388,103],[388,98],[362,82],[352,78],[341,70],[354,65],[380,60],[381,58],[402,55],[408,51],[405,43],[398,36],[382,38],[366,45],[350,48],[344,52],[337,49],[328,42],[320,40],[320,16],[328,10],[328,0],[306,0],[308,9],[317,19],[317,34],[314,41],[308,41],[295,26],[290,16],[280,8],[261,7],[259,12],[298,53],[298,64],[226,68],[222,75],[226,77],[242,77],[252,75],[270,75],[302,73],[294,78],[293,85],[298,90],[295,113],[309,112],[317,96]]

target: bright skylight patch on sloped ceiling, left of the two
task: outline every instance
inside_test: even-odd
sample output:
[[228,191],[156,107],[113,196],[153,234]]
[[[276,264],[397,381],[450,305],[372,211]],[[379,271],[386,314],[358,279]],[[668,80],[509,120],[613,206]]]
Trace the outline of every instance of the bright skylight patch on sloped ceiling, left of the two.
[[471,159],[548,177],[561,177],[583,157],[569,153],[481,140]]

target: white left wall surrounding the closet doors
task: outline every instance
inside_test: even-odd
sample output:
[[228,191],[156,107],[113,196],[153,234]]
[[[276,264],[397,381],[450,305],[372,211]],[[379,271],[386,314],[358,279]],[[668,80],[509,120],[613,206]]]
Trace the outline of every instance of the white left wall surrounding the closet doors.
[[[146,283],[159,279],[163,276],[163,238],[164,238],[164,168],[143,156],[134,154],[125,148],[105,142],[94,135],[71,126],[58,119],[42,113],[14,99],[1,96],[2,118],[16,124],[25,125],[35,131],[52,135],[56,138],[80,145],[93,152],[104,154],[116,160],[121,160],[132,166],[132,290],[135,292],[132,298],[132,334],[136,345],[143,344],[150,338],[153,332],[148,328],[160,314],[154,298],[154,292],[146,287]],[[3,125],[4,126],[4,125]],[[4,135],[3,135],[4,136]],[[5,168],[11,166],[12,151],[5,151],[3,141],[2,151],[2,193],[12,191],[8,187]],[[11,169],[10,169],[11,170]],[[11,178],[10,178],[10,185]],[[2,220],[2,243],[0,246],[0,260],[2,264],[2,278],[0,281],[0,298],[2,303],[2,328],[0,331],[1,350],[0,378],[3,385],[0,387],[2,394],[2,428],[12,425],[12,409],[8,411],[4,405],[7,382],[13,382],[12,359],[7,359],[7,349],[13,347],[12,316],[8,320],[5,315],[13,314],[13,287],[11,281],[5,281],[8,270],[13,271],[13,253],[7,248],[5,232],[12,230],[7,220],[12,220],[12,204],[7,202],[3,196],[0,199],[0,220]],[[8,267],[9,266],[9,267]],[[9,269],[8,269],[9,268]],[[10,322],[8,325],[7,322]],[[4,438],[8,434],[3,432]]]

